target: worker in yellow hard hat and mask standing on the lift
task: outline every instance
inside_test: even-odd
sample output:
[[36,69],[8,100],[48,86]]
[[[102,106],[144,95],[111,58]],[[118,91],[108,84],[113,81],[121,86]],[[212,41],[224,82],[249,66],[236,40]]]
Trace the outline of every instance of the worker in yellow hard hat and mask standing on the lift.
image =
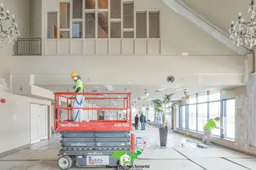
[[[75,73],[71,73],[71,77],[76,82],[74,88],[76,89],[75,93],[83,93],[84,92],[84,84],[81,80],[81,77]],[[71,97],[73,99],[74,95]],[[80,109],[83,107],[84,95],[75,95],[75,100],[73,104],[73,121],[74,122],[82,122],[83,121],[83,110]]]

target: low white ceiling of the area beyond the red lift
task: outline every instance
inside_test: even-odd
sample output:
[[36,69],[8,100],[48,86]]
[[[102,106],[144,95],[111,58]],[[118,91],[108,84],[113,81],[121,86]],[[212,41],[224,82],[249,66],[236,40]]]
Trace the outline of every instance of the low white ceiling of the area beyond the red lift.
[[[53,91],[53,92],[73,92],[74,89],[72,88],[73,85],[38,85],[41,88],[45,88],[47,90]],[[205,90],[227,90],[230,88],[234,88],[235,86],[198,86],[196,88],[188,88],[183,85],[169,85],[169,86],[162,86],[162,85],[85,85],[85,91],[91,92],[93,90],[99,91],[99,92],[106,92],[105,89],[109,89],[108,92],[110,93],[132,93],[131,98],[132,101],[134,99],[137,99],[137,104],[135,106],[140,107],[143,105],[151,105],[151,100],[153,99],[163,99],[164,94],[175,94],[173,96],[173,99],[176,100],[180,97],[184,96],[183,89],[187,88],[187,91],[189,94],[194,94],[200,91]],[[69,89],[69,90],[67,90]],[[129,89],[127,91],[126,89]],[[147,89],[147,92],[150,93],[148,97],[145,97],[145,90]],[[156,92],[159,91],[159,92]],[[141,98],[141,101],[139,102],[138,98]],[[89,96],[86,96],[89,97]],[[93,96],[95,97],[95,96]],[[99,96],[102,97],[102,96]],[[106,96],[105,96],[106,97]],[[111,95],[111,97],[121,97],[124,98],[125,96],[114,96]],[[91,103],[95,102],[97,105],[103,106],[103,107],[114,107],[113,104],[110,103],[109,100],[91,100]],[[123,100],[114,100],[117,107],[123,106]]]

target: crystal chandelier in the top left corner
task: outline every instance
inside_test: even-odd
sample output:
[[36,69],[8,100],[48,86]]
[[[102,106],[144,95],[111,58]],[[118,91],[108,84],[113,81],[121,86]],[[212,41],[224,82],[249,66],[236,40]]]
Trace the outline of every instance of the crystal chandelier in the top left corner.
[[9,10],[6,13],[3,11],[3,3],[0,3],[0,47],[6,44],[6,38],[9,39],[9,44],[14,44],[20,32],[17,30],[17,23],[15,23],[15,16],[9,16]]

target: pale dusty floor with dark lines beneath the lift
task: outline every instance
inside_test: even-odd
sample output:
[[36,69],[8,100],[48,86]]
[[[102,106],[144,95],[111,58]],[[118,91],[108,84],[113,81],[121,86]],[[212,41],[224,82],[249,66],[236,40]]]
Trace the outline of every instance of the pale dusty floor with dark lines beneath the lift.
[[[175,170],[256,170],[256,158],[254,157],[216,146],[210,146],[207,149],[197,148],[195,144],[186,142],[186,139],[190,139],[189,137],[177,133],[169,132],[167,146],[160,147],[157,128],[146,126],[146,130],[133,130],[133,132],[136,137],[141,137],[143,142],[150,144],[140,158],[134,161],[136,165],[149,165],[149,168],[143,168],[143,170],[169,170],[170,167]],[[60,135],[55,134],[52,139],[43,140],[31,147],[2,157],[0,169],[58,170],[57,154],[61,149],[60,140]],[[185,144],[183,147],[182,142]],[[70,168],[70,170],[78,169],[81,168]],[[106,168],[83,169],[103,170]]]

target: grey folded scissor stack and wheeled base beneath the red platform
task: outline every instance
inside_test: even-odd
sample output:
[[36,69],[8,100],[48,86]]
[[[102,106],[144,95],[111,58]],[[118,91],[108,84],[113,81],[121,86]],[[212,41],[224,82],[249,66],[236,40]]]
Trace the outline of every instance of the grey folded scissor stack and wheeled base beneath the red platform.
[[[67,170],[76,158],[76,166],[118,165],[119,160],[112,154],[116,150],[131,150],[130,131],[61,131],[61,146],[58,165]],[[96,160],[96,162],[94,161]]]

